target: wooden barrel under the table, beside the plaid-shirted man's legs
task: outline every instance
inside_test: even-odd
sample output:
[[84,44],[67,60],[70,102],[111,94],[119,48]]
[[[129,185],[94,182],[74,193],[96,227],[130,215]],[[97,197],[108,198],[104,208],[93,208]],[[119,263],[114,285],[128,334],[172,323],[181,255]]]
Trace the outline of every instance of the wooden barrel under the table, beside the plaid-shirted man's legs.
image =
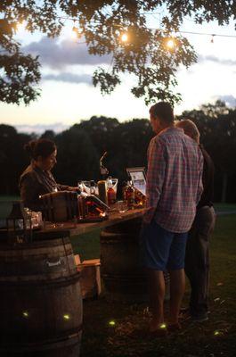
[[[101,232],[101,273],[109,300],[129,303],[148,301],[147,275],[141,266],[139,237],[142,218],[120,222]],[[168,274],[166,299],[169,295]]]

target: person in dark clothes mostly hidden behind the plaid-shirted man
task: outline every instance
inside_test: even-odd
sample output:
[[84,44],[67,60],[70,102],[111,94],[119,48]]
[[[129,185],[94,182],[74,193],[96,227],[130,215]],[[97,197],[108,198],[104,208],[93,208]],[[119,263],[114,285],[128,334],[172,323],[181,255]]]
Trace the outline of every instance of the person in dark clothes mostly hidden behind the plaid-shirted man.
[[[176,122],[177,128],[199,144],[199,129],[191,120]],[[189,232],[185,253],[185,273],[191,284],[189,308],[183,309],[183,318],[203,322],[208,320],[209,295],[209,239],[215,228],[216,214],[213,207],[214,163],[209,154],[199,145],[203,154],[203,193],[197,206],[195,219]]]

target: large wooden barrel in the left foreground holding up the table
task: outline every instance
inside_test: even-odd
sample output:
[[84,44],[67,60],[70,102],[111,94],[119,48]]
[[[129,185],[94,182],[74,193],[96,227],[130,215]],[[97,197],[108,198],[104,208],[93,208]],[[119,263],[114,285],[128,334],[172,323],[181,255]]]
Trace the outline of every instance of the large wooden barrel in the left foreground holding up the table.
[[0,243],[0,356],[78,357],[79,273],[69,238]]

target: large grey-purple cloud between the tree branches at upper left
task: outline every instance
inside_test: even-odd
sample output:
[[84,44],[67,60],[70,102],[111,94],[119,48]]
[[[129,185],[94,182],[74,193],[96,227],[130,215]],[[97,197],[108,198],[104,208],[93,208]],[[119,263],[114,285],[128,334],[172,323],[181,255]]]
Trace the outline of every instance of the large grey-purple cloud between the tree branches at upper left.
[[69,65],[86,64],[98,65],[110,63],[110,55],[88,54],[87,46],[84,43],[76,43],[72,40],[61,42],[56,38],[42,37],[38,42],[32,42],[24,46],[23,51],[34,55],[39,55],[39,61],[53,69],[63,69]]

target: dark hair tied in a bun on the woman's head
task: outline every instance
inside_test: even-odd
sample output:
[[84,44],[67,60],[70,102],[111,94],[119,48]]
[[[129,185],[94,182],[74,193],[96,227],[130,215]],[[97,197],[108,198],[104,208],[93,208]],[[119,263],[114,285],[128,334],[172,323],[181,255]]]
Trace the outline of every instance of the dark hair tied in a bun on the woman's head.
[[44,159],[56,150],[56,145],[49,139],[31,140],[28,144],[24,145],[24,149],[31,156],[32,159],[37,160],[38,156]]

